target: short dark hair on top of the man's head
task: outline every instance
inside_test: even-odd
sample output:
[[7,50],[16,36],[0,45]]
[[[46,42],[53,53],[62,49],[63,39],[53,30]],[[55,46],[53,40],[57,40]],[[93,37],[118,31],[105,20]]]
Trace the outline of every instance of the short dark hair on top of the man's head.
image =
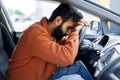
[[68,19],[72,19],[74,22],[78,22],[81,18],[83,18],[82,14],[74,9],[69,4],[61,3],[52,13],[49,18],[49,21],[52,22],[57,16],[61,16],[63,22]]

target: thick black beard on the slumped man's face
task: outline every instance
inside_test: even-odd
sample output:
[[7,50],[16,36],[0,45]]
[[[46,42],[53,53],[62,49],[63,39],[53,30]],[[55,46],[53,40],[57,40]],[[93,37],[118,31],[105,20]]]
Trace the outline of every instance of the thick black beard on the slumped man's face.
[[54,31],[53,31],[52,36],[53,36],[56,40],[61,40],[64,36],[66,36],[66,34],[63,33],[63,31],[62,31],[62,25],[63,25],[63,23],[62,23],[61,25],[57,26],[57,27],[54,29]]

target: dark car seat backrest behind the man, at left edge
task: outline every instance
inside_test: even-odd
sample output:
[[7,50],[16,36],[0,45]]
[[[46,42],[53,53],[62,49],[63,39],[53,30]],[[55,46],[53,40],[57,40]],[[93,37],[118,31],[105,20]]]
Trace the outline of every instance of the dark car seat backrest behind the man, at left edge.
[[8,69],[8,60],[14,48],[15,48],[15,44],[8,30],[5,28],[5,26],[2,23],[0,23],[0,71],[4,78],[6,78],[6,71]]

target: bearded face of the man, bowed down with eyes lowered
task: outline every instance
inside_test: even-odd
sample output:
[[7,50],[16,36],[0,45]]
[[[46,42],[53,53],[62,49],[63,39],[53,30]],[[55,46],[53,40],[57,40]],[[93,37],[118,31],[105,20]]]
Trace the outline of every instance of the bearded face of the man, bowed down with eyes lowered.
[[52,36],[55,37],[56,40],[61,40],[72,31],[74,24],[75,23],[71,19],[66,22],[62,22],[54,29]]

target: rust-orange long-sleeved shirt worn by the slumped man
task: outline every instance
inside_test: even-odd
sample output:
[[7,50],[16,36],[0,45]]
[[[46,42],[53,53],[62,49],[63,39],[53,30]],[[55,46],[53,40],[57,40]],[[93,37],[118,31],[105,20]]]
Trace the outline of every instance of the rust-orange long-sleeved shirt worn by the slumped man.
[[8,80],[48,80],[57,66],[74,62],[78,51],[78,33],[72,32],[64,45],[51,40],[46,18],[21,35],[9,61]]

